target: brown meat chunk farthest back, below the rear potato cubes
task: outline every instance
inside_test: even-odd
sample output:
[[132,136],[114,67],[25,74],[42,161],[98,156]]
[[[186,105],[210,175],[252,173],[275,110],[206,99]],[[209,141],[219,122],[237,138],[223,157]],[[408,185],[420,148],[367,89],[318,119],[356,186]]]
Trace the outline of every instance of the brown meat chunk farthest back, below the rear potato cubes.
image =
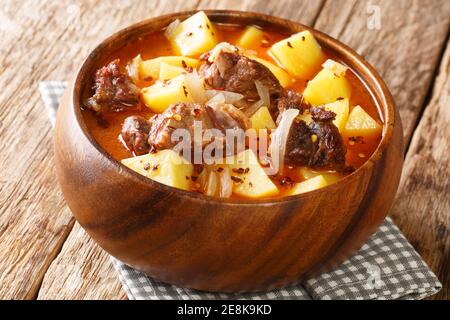
[[207,60],[200,68],[200,75],[210,87],[240,93],[246,100],[259,100],[257,80],[268,88],[271,99],[277,99],[283,91],[278,79],[266,66],[233,52],[222,51],[213,62]]

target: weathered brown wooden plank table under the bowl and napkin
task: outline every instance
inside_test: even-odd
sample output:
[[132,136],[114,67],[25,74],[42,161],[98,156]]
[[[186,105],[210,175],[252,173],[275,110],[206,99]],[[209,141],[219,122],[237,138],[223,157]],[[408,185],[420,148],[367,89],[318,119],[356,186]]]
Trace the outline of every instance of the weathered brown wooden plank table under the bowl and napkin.
[[388,83],[400,109],[406,162],[391,216],[450,298],[450,2],[2,1],[0,8],[0,298],[125,299],[108,255],[64,204],[53,130],[38,82],[67,80],[112,32],[162,13],[264,12],[350,45]]

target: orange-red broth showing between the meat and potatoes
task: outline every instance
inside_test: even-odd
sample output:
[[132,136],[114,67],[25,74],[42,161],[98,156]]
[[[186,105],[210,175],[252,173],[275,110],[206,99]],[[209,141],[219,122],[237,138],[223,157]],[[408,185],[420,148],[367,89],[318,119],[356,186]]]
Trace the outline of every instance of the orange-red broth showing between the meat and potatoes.
[[[216,25],[217,38],[219,42],[226,41],[233,44],[237,42],[237,39],[242,34],[244,29],[245,27],[242,26],[219,24]],[[267,53],[267,50],[270,46],[272,46],[272,44],[288,36],[289,34],[283,34],[273,30],[264,30],[264,45],[261,45],[259,48],[253,50],[257,52],[257,56],[260,58],[277,63]],[[163,31],[160,31],[151,33],[128,43],[117,52],[106,57],[103,63],[107,64],[110,61],[119,58],[121,67],[125,68],[126,64],[138,54],[142,56],[142,59],[146,60],[159,56],[174,55],[174,52],[169,41],[165,38]],[[325,52],[325,54],[328,58],[334,58],[328,52]],[[360,105],[373,119],[376,119],[379,123],[382,123],[376,101],[372,97],[366,85],[351,69],[347,71],[346,78],[352,86],[350,108],[352,108],[352,106]],[[137,85],[143,88],[150,86],[153,83],[154,81],[140,81]],[[303,92],[305,87],[305,81],[296,81],[290,86],[291,89],[298,92]],[[99,124],[97,117],[91,111],[82,110],[82,114],[90,133],[100,144],[100,146],[111,154],[113,158],[120,161],[133,156],[133,154],[124,146],[120,139],[120,132],[124,119],[130,115],[141,115],[146,118],[150,118],[152,112],[142,104],[140,111],[133,110],[118,113],[106,113],[104,115],[104,120],[106,120],[108,124],[107,126]],[[355,169],[363,165],[364,162],[366,162],[367,159],[373,154],[380,140],[381,136],[370,141],[367,139],[364,141],[358,141],[358,139],[354,139],[353,137],[346,137],[344,139],[344,143],[347,148],[347,165],[350,165]],[[287,168],[284,175],[287,175],[294,182],[300,182],[303,180],[294,168]],[[285,194],[283,190],[286,190],[287,188],[284,182],[279,179],[273,179],[273,182],[280,189],[280,194],[277,197],[283,196]],[[233,194],[232,198],[238,198],[238,196]]]

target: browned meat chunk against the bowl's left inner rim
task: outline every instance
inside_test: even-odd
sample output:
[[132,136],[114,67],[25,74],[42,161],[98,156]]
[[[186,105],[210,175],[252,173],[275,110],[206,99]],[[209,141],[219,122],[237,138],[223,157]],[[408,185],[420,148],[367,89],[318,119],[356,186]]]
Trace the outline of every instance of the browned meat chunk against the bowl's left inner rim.
[[122,73],[119,59],[100,68],[95,73],[94,95],[85,107],[97,113],[136,108],[139,104],[139,88],[131,78]]

